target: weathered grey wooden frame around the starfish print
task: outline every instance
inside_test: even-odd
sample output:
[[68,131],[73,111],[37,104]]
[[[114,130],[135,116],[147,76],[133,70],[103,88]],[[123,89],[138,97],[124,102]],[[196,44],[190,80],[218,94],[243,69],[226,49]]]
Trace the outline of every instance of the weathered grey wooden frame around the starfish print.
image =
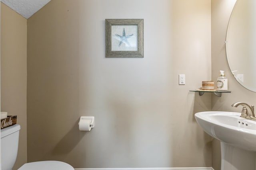
[[[112,51],[112,25],[137,25],[137,49],[134,51]],[[144,57],[144,20],[143,19],[106,19],[106,58],[113,57]],[[124,28],[123,28],[124,29]],[[123,34],[125,35],[125,29],[123,30]],[[117,34],[116,34],[117,36]],[[120,35],[118,35],[120,36]],[[133,36],[127,35],[127,36]],[[121,40],[119,40],[120,44],[122,44]]]

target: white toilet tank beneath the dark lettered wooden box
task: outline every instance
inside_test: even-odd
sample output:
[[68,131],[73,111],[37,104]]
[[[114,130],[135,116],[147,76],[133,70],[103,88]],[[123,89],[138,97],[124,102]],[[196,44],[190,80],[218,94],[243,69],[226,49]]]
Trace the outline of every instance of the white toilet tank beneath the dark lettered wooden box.
[[1,129],[1,168],[12,170],[18,153],[20,125]]

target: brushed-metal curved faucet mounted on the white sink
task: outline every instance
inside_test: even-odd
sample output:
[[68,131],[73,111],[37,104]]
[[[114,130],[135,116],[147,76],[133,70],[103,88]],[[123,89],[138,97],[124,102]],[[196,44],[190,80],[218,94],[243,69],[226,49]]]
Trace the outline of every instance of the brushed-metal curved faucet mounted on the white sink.
[[[233,103],[231,106],[232,107],[238,107],[240,105],[243,106],[242,113],[241,113],[240,117],[244,117],[246,119],[250,119],[250,120],[256,121],[256,117],[255,117],[255,114],[254,114],[254,106],[250,106],[250,105],[248,105],[248,104],[246,104],[244,102],[236,102],[236,103]],[[248,112],[246,106],[250,108],[249,112]]]

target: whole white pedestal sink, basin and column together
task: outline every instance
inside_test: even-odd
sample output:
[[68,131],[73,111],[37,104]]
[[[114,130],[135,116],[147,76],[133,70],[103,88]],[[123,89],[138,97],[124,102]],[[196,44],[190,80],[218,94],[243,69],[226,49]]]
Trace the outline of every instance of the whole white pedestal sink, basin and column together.
[[221,170],[256,170],[256,121],[240,115],[226,111],[195,114],[204,131],[221,143]]

